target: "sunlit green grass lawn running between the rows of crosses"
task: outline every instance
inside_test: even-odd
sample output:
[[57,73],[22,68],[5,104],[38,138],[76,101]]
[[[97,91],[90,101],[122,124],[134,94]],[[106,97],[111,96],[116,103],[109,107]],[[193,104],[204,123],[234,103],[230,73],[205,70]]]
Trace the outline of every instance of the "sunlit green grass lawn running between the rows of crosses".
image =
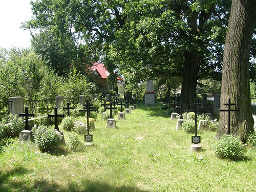
[[0,191],[256,191],[254,148],[240,161],[219,159],[215,133],[199,131],[203,150],[191,152],[192,135],[176,123],[159,103],[139,104],[117,129],[98,118],[96,145],[79,152],[40,153],[15,139],[0,154]]

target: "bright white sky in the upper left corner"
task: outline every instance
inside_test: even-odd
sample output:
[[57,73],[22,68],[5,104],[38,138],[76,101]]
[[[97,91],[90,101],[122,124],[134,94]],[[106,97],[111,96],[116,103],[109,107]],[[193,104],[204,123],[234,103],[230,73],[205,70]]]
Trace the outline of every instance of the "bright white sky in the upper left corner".
[[20,29],[21,23],[32,17],[30,1],[0,0],[0,48],[30,47],[30,32]]

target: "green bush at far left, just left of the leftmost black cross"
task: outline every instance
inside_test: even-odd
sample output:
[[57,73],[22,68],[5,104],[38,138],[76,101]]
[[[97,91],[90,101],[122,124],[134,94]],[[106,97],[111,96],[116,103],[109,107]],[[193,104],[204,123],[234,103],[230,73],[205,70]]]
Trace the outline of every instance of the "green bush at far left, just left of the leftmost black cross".
[[24,130],[24,123],[23,123],[23,118],[18,118],[17,115],[9,115],[8,116],[8,124],[5,124],[2,122],[3,125],[3,130],[7,134],[8,137],[14,138],[18,137],[19,133]]

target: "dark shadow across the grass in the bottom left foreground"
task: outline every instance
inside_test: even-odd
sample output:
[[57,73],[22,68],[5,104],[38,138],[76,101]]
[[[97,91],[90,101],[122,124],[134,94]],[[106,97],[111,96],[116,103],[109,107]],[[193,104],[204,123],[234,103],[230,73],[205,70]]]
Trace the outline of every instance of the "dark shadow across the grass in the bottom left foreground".
[[113,186],[108,183],[99,182],[99,181],[90,181],[90,180],[82,180],[80,183],[82,185],[75,183],[75,181],[71,181],[66,187],[60,186],[57,182],[49,182],[48,180],[41,178],[40,180],[16,180],[12,179],[12,177],[20,177],[20,175],[24,175],[28,173],[28,170],[23,167],[17,167],[13,170],[10,170],[6,174],[0,175],[0,191],[30,191],[30,192],[54,192],[54,191],[62,191],[62,192],[93,192],[93,191],[104,191],[104,192],[148,192],[146,190],[141,190],[134,186]]

